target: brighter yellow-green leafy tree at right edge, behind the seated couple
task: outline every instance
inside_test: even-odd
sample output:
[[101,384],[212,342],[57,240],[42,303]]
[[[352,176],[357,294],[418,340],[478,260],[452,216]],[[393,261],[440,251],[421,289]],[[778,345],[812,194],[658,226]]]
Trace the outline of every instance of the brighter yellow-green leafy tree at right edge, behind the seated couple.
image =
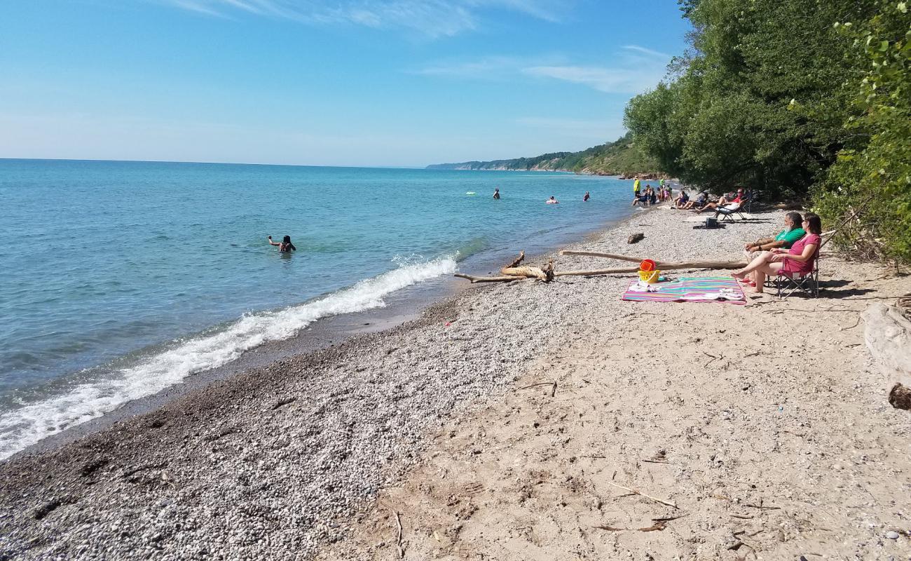
[[[838,154],[814,203],[848,220],[839,241],[868,255],[911,263],[911,15],[906,2],[881,0],[875,16],[835,22],[852,40],[845,57],[862,71],[844,82],[850,97]],[[795,112],[814,112],[794,104]],[[840,115],[840,113],[836,114]]]

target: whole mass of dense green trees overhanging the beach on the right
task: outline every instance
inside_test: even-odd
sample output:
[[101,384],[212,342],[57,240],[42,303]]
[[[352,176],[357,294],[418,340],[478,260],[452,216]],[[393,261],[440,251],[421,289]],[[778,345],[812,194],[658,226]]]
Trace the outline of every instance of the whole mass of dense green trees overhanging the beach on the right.
[[911,13],[896,0],[679,0],[687,50],[630,99],[661,171],[810,201],[837,242],[911,264]]

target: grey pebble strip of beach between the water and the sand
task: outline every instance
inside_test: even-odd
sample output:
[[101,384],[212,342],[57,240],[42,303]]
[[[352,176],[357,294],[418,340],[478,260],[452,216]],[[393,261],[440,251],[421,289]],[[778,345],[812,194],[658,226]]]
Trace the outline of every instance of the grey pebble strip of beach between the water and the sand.
[[[651,208],[570,246],[662,259],[720,251],[735,255],[742,239],[774,228],[779,214],[756,213],[758,220],[752,223],[696,231],[681,223],[685,214]],[[630,232],[642,227],[647,228],[645,240],[626,244]],[[586,258],[558,257],[562,268],[587,265],[591,261]],[[22,558],[282,559],[314,556],[321,548],[331,555],[330,545],[345,540],[338,545],[351,545],[359,555],[340,558],[392,558],[394,548],[376,550],[358,541],[362,525],[374,520],[383,510],[377,508],[379,501],[396,485],[407,484],[409,474],[433,467],[439,442],[453,442],[459,461],[469,465],[489,462],[486,451],[508,449],[491,447],[493,442],[482,434],[492,435],[494,424],[454,433],[449,429],[454,423],[474,426],[473,420],[483,421],[485,411],[502,403],[509,404],[512,414],[519,413],[517,407],[523,416],[543,414],[544,398],[519,404],[511,397],[526,382],[577,372],[589,384],[597,381],[599,391],[616,391],[644,373],[666,370],[649,364],[612,379],[617,374],[607,357],[550,364],[571,349],[587,348],[591,355],[603,346],[617,357],[631,353],[636,360],[641,345],[623,346],[644,329],[650,338],[667,338],[676,352],[683,339],[674,334],[680,337],[689,329],[686,322],[678,323],[683,317],[718,320],[717,329],[743,317],[744,310],[758,317],[753,305],[770,303],[768,296],[751,298],[751,306],[621,302],[619,294],[629,280],[630,275],[572,277],[550,285],[518,281],[461,290],[397,327],[281,358],[77,442],[0,463],[0,553]],[[857,294],[837,285],[828,290],[829,297]],[[844,291],[849,296],[833,296]],[[800,299],[796,304],[806,306]],[[646,309],[653,310],[650,316],[634,317]],[[843,337],[849,335],[856,332]],[[569,381],[561,378],[560,384],[570,389],[566,395],[572,399],[574,386],[564,386]],[[644,398],[660,388],[638,391]],[[711,393],[712,388],[705,390]],[[564,398],[563,390],[558,396]],[[763,403],[770,399],[763,396]],[[614,407],[628,409],[622,402]],[[670,406],[649,407],[658,408],[650,409],[658,414]],[[814,416],[815,422],[823,421]],[[908,424],[896,424],[896,430]],[[552,428],[544,427],[541,431]],[[537,433],[530,428],[506,431],[513,436]],[[563,437],[548,432],[539,441],[552,446],[558,438]],[[630,438],[641,435],[632,431]],[[515,458],[515,465],[533,457]],[[454,491],[456,497],[476,493],[460,489]],[[405,521],[412,532],[409,551],[423,551],[414,521]]]

